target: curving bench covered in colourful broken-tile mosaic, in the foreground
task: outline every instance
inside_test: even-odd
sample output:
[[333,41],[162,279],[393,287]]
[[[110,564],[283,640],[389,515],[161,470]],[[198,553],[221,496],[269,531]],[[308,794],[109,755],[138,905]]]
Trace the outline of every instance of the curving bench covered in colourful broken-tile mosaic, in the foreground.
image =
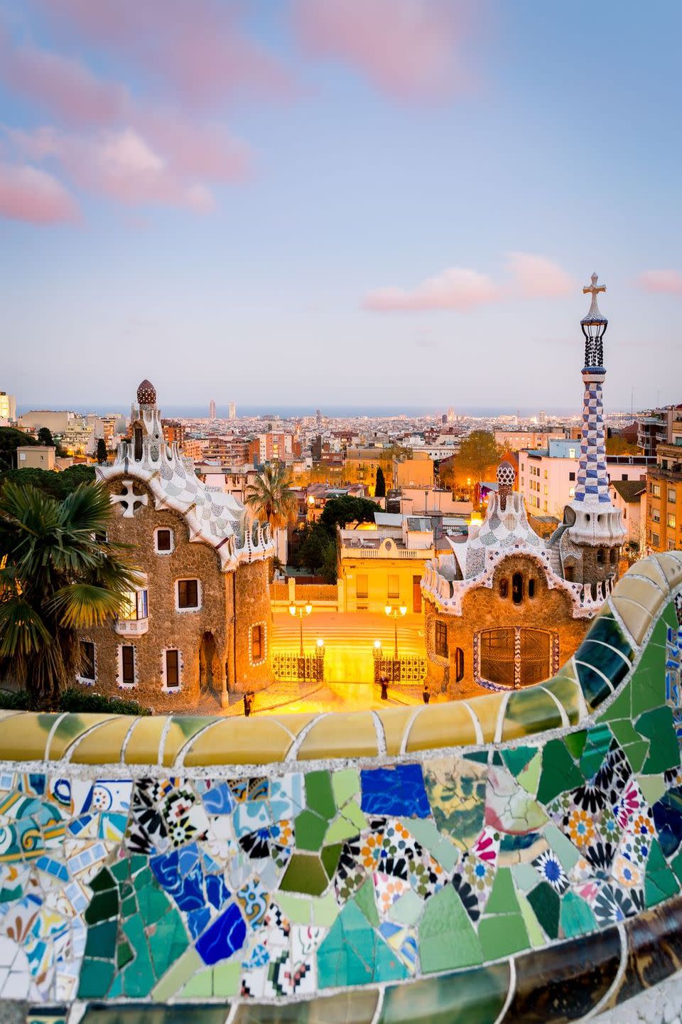
[[553,679],[461,702],[3,713],[3,1007],[87,1024],[620,1024],[639,1000],[669,1019],[681,589],[682,553],[639,562]]

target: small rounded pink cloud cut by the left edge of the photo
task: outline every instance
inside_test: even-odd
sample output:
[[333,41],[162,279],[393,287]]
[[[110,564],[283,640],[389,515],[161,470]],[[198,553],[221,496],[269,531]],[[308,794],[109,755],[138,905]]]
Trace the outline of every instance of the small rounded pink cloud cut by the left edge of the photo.
[[37,167],[0,163],[0,216],[34,224],[78,219],[78,208],[62,184]]

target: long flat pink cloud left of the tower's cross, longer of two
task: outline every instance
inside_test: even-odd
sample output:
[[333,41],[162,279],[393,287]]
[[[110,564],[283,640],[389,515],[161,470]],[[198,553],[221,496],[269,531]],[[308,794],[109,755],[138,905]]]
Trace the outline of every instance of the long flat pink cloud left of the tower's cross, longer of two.
[[366,309],[380,311],[414,309],[466,310],[498,298],[499,292],[485,273],[466,267],[449,267],[421,282],[411,291],[381,288],[364,299]]

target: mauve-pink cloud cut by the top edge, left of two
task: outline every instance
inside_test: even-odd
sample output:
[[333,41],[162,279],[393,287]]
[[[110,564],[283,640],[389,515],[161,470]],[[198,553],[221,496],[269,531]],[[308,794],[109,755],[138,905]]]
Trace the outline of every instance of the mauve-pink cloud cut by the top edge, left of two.
[[128,62],[181,100],[213,106],[247,92],[282,98],[293,78],[266,47],[248,39],[242,3],[225,0],[40,0],[55,26]]

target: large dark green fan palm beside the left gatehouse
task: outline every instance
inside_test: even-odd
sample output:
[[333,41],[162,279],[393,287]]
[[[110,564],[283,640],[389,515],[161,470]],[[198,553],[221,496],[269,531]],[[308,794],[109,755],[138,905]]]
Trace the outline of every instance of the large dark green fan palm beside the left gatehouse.
[[136,573],[106,541],[111,506],[102,484],[62,502],[31,485],[0,492],[0,677],[36,706],[56,703],[79,671],[78,631],[116,615]]

